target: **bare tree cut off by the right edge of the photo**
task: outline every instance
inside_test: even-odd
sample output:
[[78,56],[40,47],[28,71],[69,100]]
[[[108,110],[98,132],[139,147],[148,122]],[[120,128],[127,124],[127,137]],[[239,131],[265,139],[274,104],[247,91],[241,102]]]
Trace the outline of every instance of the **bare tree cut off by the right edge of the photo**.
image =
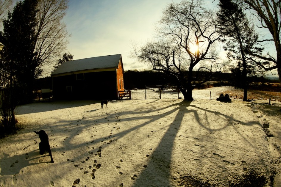
[[[256,51],[250,51],[250,54],[256,57],[256,64],[270,71],[277,69],[279,79],[281,81],[281,44],[280,44],[280,29],[281,29],[281,1],[279,0],[236,0],[245,5],[246,9],[252,11],[260,22],[259,27],[270,32],[271,38],[264,38],[258,43],[260,45],[274,43],[276,56],[270,54],[263,55]],[[260,61],[261,59],[262,61]],[[254,58],[253,58],[254,60]]]

